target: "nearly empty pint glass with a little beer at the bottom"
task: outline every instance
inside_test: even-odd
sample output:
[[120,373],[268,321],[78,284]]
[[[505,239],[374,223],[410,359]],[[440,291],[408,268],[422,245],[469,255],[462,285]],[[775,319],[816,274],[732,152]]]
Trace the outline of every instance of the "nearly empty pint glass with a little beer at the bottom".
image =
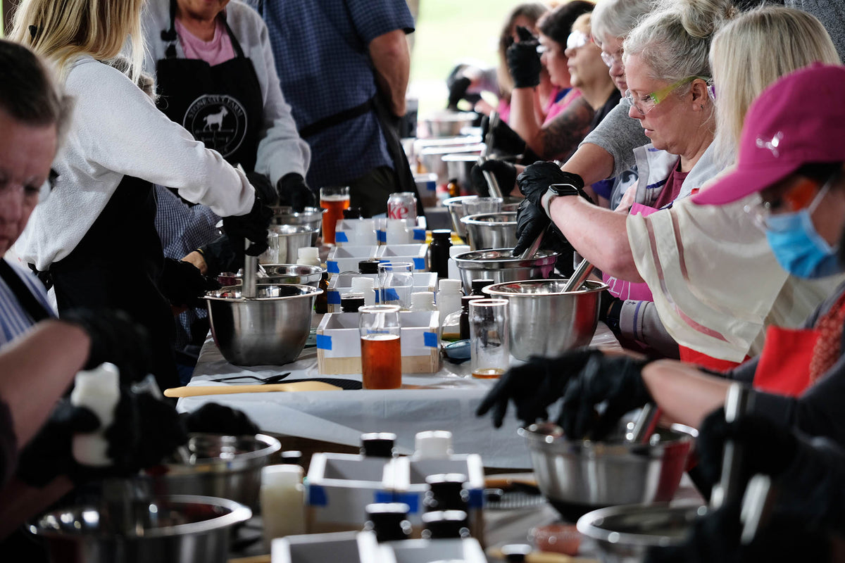
[[508,300],[470,301],[470,361],[472,376],[495,379],[510,365]]

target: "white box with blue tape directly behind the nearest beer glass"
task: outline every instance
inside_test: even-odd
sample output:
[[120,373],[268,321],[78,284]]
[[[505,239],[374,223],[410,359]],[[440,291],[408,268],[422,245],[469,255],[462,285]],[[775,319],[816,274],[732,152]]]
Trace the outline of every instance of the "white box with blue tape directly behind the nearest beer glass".
[[[440,369],[439,314],[402,311],[402,373],[434,373]],[[358,313],[328,313],[317,327],[317,365],[324,375],[361,373]]]

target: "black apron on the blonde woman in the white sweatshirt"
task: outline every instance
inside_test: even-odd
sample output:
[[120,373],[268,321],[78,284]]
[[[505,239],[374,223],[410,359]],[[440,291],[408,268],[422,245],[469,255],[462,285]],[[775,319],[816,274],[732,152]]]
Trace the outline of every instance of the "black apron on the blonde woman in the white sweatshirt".
[[126,311],[146,328],[150,366],[161,389],[178,387],[176,327],[159,283],[164,253],[155,231],[155,189],[123,176],[112,198],[73,252],[52,263],[59,317],[74,307]]

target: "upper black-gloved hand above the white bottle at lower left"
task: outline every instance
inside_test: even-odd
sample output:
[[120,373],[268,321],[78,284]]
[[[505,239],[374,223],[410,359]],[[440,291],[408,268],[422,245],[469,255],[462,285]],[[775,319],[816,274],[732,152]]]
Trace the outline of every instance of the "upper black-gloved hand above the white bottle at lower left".
[[72,309],[60,317],[82,328],[91,340],[83,368],[93,370],[112,362],[120,371],[123,385],[139,382],[150,373],[150,344],[147,331],[124,311]]

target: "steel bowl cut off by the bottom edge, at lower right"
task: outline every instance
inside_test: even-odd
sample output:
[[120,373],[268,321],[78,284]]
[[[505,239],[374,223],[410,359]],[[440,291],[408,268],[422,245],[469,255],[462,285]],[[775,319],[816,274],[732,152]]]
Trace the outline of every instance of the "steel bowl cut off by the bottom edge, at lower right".
[[610,506],[582,516],[578,531],[595,540],[604,563],[640,563],[652,546],[683,542],[706,513],[699,505]]

